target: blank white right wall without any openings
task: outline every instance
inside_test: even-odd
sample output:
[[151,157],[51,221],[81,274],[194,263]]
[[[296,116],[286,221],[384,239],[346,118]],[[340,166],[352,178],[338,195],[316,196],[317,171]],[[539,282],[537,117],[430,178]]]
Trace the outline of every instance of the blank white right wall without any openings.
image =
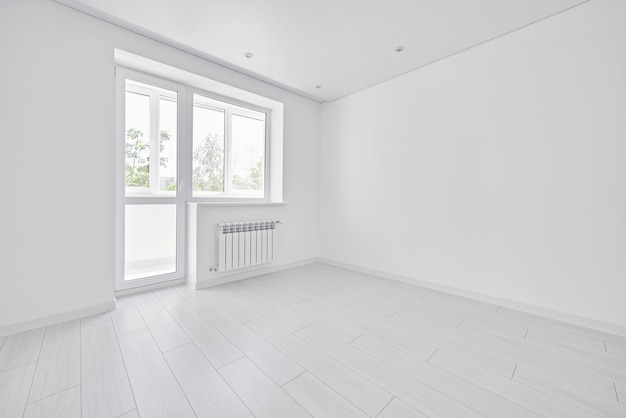
[[321,255],[626,326],[626,2],[325,104]]

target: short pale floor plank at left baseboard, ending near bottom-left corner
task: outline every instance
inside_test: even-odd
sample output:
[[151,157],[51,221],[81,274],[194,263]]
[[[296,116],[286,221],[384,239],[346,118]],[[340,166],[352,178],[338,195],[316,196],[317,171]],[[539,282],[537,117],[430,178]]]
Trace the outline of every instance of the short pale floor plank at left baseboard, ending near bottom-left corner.
[[80,385],[80,320],[49,325],[28,402]]

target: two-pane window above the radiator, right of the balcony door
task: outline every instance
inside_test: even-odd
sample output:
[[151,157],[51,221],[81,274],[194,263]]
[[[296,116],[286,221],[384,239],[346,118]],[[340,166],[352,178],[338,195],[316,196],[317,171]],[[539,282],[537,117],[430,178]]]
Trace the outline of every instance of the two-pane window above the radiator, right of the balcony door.
[[193,95],[194,197],[264,197],[267,113]]

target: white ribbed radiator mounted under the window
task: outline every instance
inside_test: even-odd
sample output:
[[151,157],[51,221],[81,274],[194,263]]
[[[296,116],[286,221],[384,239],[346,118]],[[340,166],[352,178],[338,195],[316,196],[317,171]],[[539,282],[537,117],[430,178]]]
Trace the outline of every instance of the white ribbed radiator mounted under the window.
[[270,263],[274,259],[274,229],[279,221],[217,224],[217,271]]

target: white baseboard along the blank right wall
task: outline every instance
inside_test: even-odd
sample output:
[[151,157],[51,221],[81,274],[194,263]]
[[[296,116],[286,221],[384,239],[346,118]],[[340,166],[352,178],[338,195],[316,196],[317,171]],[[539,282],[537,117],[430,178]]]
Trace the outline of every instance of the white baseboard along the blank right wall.
[[456,296],[462,296],[468,299],[480,300],[482,302],[499,305],[509,309],[515,309],[518,311],[526,312],[533,315],[539,315],[556,321],[566,322],[570,325],[575,325],[584,328],[591,328],[593,330],[607,332],[609,334],[619,335],[626,337],[626,327],[618,324],[612,324],[610,322],[600,321],[593,318],[587,318],[580,315],[561,312],[554,309],[546,308],[543,306],[532,305],[529,303],[519,302],[511,299],[500,298],[496,296],[486,295],[479,292],[472,292],[467,289],[461,289],[453,286],[441,285],[426,280],[421,280],[413,277],[401,276],[399,274],[387,273],[384,271],[369,269],[366,267],[357,266],[354,264],[344,263],[328,258],[320,258],[320,263],[329,264],[335,267],[341,267],[347,270],[358,271],[360,273],[369,274],[372,276],[383,277],[385,279],[397,280],[399,282],[412,284],[415,286],[421,286],[426,289],[436,290],[439,292],[450,293]]

